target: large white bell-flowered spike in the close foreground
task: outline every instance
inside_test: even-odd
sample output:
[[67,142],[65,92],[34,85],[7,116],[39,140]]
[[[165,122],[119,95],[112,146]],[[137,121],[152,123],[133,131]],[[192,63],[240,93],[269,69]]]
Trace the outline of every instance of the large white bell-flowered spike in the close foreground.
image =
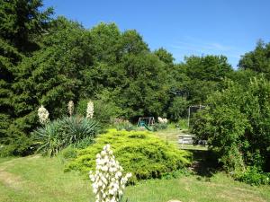
[[112,154],[110,145],[103,146],[103,151],[96,155],[96,171],[89,172],[93,182],[95,202],[119,202],[131,173],[122,174],[122,167]]

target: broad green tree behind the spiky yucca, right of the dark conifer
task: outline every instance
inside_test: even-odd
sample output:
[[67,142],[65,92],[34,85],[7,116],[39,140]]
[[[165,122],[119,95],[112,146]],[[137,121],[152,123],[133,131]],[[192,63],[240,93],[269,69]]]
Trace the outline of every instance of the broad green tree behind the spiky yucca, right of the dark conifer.
[[[15,118],[9,130],[29,137],[36,126],[36,110],[43,104],[50,119],[67,113],[67,101],[77,101],[85,68],[93,65],[89,32],[60,17],[51,22],[42,48],[19,65],[14,87]],[[23,135],[22,135],[23,134]]]

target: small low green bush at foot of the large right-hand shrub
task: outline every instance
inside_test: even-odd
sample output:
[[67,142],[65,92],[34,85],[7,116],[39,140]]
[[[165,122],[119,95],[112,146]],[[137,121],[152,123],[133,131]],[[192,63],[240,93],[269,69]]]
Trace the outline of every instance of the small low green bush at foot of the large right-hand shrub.
[[270,173],[263,172],[256,166],[248,166],[247,171],[236,174],[235,178],[251,185],[270,184]]

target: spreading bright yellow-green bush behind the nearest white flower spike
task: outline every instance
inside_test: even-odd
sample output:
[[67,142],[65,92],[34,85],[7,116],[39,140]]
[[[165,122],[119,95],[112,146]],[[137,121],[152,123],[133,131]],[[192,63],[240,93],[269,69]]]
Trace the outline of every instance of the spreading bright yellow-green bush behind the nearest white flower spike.
[[124,171],[132,172],[131,182],[161,178],[190,163],[189,153],[167,144],[150,132],[111,129],[96,138],[94,145],[79,150],[76,159],[67,164],[66,171],[78,170],[86,174],[94,170],[95,155],[107,144],[112,146],[113,154]]

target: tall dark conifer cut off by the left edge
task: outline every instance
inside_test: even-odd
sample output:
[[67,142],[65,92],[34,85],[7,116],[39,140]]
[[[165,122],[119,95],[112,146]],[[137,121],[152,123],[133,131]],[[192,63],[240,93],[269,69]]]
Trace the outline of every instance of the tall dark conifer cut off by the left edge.
[[[40,0],[0,0],[0,139],[6,143],[14,121],[14,91],[18,64],[38,49],[37,39],[45,31],[52,8],[40,12]],[[3,138],[4,137],[4,138]]]

